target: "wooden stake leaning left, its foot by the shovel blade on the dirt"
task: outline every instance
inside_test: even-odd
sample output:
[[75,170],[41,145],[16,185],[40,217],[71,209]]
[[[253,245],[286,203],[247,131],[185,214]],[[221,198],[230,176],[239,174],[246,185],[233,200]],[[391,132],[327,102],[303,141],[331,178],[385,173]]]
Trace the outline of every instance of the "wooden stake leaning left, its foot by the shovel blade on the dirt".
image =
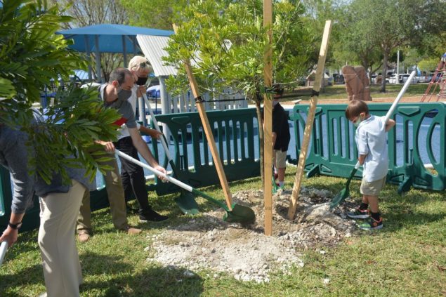
[[[173,30],[176,32],[176,25],[173,24]],[[220,156],[218,155],[217,147],[214,140],[214,134],[212,133],[211,126],[209,125],[209,119],[207,118],[206,111],[204,110],[203,103],[197,98],[201,98],[198,90],[198,84],[195,80],[195,75],[192,72],[192,67],[190,66],[190,61],[184,61],[186,67],[186,72],[188,73],[190,88],[192,94],[195,98],[195,105],[199,113],[199,117],[202,120],[204,133],[206,134],[207,142],[209,143],[209,148],[211,149],[212,159],[216,166],[218,178],[220,179],[221,188],[223,189],[223,194],[225,195],[226,204],[228,205],[228,211],[232,211],[232,194],[229,190],[228,180],[225,176],[225,171],[223,170],[223,165],[221,164]]]

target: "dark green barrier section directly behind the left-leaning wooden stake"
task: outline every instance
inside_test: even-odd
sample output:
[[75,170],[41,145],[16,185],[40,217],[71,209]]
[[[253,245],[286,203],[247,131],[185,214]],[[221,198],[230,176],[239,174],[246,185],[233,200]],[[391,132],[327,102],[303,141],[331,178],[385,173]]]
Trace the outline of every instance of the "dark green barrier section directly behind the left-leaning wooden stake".
[[[254,156],[255,147],[258,147],[258,138],[254,137],[258,131],[256,110],[211,111],[206,114],[209,125],[214,127],[214,139],[228,181],[259,176],[259,161]],[[198,112],[159,114],[156,119],[166,124],[171,133],[173,161],[181,171],[177,178],[192,187],[219,184]],[[152,142],[152,149],[156,159],[159,160],[160,155],[164,158],[160,143]],[[167,166],[167,160],[162,165]],[[155,190],[157,194],[167,194],[178,192],[178,187],[171,183],[156,183]]]

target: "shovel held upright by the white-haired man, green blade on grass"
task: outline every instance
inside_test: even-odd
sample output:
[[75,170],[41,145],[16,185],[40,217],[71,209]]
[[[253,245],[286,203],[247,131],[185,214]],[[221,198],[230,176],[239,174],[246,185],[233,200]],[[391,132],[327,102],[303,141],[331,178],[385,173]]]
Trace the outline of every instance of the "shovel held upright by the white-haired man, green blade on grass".
[[[161,129],[159,128],[157,119],[155,119],[155,114],[153,114],[153,112],[152,112],[152,107],[150,107],[149,100],[147,100],[147,95],[143,94],[143,98],[144,98],[145,105],[147,105],[147,109],[150,112],[150,117],[152,118],[155,128],[157,129],[158,132],[161,132]],[[175,163],[173,163],[173,159],[169,152],[169,147],[167,147],[167,143],[166,143],[166,139],[164,138],[164,134],[161,137],[161,143],[164,147],[164,152],[166,153],[166,157],[167,157],[167,159],[169,159],[169,164],[172,168],[173,174],[177,178],[180,178],[180,172],[178,171],[178,169],[176,169]],[[175,202],[178,205],[178,207],[181,209],[181,211],[183,211],[183,213],[185,213],[185,214],[195,215],[195,214],[199,213],[198,204],[195,201],[194,195],[190,192],[185,192],[185,190],[183,190],[183,188],[181,188],[181,194],[179,197],[177,197],[175,199]]]

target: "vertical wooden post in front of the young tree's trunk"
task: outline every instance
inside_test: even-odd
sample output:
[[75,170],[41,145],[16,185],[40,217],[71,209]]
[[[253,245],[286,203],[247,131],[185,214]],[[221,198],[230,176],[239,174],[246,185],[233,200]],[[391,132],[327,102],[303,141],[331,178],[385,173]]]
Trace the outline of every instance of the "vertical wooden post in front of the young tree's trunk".
[[[271,0],[263,1],[263,26],[269,27],[273,24],[273,3]],[[263,69],[265,88],[270,87],[272,84],[273,77],[273,29],[268,29],[268,45],[265,50],[264,63],[265,68]],[[265,235],[273,235],[273,197],[271,197],[273,192],[273,185],[271,184],[271,176],[273,176],[273,101],[271,100],[270,93],[265,93],[263,95],[263,173],[264,173],[264,186],[263,186],[263,197],[265,199]],[[261,129],[261,125],[258,125]]]

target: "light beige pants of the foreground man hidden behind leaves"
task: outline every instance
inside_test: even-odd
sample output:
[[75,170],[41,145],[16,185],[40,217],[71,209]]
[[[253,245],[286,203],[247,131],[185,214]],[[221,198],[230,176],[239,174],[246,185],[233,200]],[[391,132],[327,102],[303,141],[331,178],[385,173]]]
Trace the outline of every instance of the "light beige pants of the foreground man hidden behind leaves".
[[38,242],[48,297],[79,296],[82,273],[73,231],[84,192],[88,189],[72,180],[69,192],[39,199]]

